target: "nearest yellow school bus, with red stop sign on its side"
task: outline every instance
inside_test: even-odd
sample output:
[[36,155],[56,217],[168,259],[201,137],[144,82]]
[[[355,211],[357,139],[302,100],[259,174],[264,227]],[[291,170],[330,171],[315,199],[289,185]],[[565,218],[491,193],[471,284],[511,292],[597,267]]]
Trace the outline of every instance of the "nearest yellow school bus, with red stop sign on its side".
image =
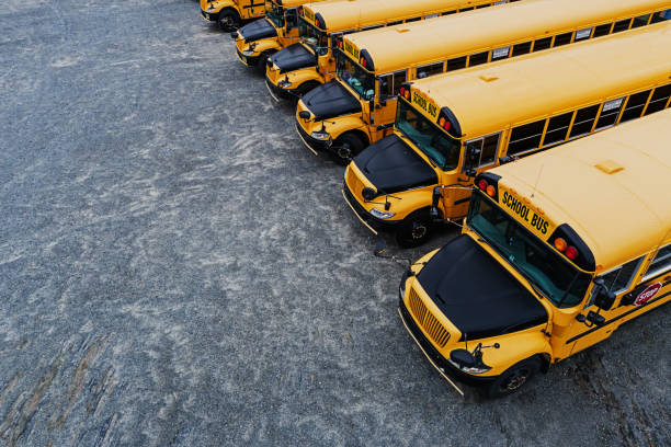
[[400,284],[441,375],[505,396],[671,299],[670,139],[663,111],[476,177],[462,234]]

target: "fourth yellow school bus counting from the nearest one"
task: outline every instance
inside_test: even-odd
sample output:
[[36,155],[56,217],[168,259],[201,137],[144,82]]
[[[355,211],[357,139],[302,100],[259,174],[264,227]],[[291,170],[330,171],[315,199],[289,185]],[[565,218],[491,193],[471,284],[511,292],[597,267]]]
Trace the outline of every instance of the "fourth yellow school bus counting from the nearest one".
[[333,48],[345,34],[450,15],[507,1],[492,0],[337,0],[306,4],[299,18],[302,43],[276,54],[266,85],[275,100],[300,96],[336,76]]

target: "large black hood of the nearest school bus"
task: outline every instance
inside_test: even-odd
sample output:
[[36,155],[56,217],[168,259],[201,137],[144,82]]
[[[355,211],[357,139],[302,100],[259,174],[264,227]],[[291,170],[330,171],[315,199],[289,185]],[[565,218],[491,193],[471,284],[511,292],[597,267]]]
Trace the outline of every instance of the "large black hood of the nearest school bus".
[[443,247],[417,278],[468,340],[547,322],[543,305],[466,234]]

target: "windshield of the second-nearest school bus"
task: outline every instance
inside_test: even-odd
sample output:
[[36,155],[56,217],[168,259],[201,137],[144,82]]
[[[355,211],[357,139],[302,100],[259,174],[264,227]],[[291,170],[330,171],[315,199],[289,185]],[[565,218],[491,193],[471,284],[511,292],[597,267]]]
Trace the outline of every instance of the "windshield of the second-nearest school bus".
[[441,130],[402,98],[396,108],[396,128],[443,171],[452,171],[459,163],[460,141]]

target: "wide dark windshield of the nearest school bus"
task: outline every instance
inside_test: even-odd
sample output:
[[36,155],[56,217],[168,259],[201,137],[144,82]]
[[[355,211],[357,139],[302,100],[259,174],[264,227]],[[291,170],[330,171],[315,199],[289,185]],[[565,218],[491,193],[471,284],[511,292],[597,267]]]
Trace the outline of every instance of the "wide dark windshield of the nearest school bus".
[[468,225],[556,307],[582,301],[590,275],[565,261],[547,244],[497,205],[475,191],[470,196]]

